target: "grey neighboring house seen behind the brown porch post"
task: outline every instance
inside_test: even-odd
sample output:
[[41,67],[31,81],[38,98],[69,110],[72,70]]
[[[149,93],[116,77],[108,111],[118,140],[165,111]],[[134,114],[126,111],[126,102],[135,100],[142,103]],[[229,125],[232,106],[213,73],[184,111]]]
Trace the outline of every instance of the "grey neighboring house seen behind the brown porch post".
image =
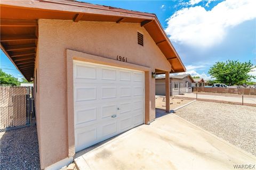
[[[170,75],[170,95],[175,96],[192,92],[194,82],[190,74]],[[165,96],[165,78],[156,79],[156,95]]]

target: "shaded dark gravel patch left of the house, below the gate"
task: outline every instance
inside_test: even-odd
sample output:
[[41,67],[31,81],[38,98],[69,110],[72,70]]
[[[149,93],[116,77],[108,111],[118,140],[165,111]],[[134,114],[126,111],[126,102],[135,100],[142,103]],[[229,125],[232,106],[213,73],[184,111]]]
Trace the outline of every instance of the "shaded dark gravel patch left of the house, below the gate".
[[36,126],[0,132],[0,169],[40,169]]

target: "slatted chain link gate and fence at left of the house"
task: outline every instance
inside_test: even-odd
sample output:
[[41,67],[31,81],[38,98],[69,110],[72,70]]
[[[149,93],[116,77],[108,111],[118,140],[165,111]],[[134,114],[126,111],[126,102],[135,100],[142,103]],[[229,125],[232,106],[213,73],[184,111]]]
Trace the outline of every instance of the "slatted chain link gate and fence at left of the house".
[[33,87],[0,87],[0,129],[35,124]]

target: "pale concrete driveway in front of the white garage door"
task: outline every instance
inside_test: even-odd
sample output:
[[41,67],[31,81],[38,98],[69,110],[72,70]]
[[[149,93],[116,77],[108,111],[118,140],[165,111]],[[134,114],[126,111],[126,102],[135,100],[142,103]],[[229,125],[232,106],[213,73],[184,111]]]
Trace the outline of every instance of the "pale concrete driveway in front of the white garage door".
[[76,154],[78,169],[234,169],[256,157],[169,114]]

